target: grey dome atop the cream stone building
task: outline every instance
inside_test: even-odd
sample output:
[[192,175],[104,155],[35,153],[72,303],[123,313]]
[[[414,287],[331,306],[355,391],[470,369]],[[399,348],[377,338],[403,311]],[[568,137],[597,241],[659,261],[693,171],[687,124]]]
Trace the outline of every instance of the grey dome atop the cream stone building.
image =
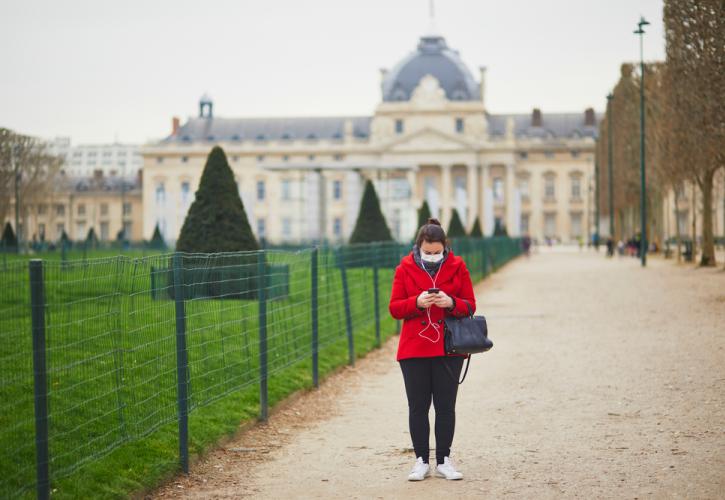
[[476,101],[481,98],[478,83],[442,36],[421,37],[418,49],[400,61],[383,79],[383,101],[408,101],[418,82],[433,75],[451,101]]

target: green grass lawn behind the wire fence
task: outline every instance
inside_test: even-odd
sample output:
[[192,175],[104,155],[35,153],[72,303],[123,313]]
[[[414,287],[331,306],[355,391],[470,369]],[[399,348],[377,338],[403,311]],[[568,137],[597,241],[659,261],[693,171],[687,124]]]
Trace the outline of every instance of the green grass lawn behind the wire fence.
[[[477,281],[484,275],[484,253],[474,243],[463,253]],[[494,267],[514,255],[511,245],[509,240],[490,243]],[[401,251],[407,248],[385,249],[387,256],[379,260],[387,262],[379,269],[383,341],[396,329],[388,313],[389,264],[399,261]],[[355,355],[360,357],[375,347],[374,285],[369,248],[356,252],[347,261],[364,267],[349,267],[347,279]],[[289,270],[289,293],[267,302],[273,405],[312,387],[311,251],[267,255],[270,263]],[[154,299],[150,291],[152,267],[167,268],[168,255],[56,259],[44,265],[53,495],[126,497],[157,485],[179,470],[175,302],[165,293]],[[0,497],[32,498],[35,424],[27,258],[0,265],[0,280]],[[318,280],[323,377],[348,360],[341,273],[328,251],[320,251]],[[185,302],[192,455],[259,415],[258,307],[257,300]]]

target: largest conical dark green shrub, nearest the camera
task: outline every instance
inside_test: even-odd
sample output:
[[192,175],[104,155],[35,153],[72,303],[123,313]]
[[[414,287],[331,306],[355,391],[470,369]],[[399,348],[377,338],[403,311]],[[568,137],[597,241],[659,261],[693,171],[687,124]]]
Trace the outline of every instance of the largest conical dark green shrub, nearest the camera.
[[214,146],[206,160],[176,249],[202,253],[259,250],[234,174],[219,146]]

